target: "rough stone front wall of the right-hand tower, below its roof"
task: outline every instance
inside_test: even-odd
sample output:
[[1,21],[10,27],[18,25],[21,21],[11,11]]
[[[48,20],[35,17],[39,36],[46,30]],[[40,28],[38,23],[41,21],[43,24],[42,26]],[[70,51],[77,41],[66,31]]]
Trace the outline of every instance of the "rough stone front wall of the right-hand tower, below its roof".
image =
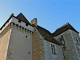
[[64,60],[78,60],[74,41],[73,41],[72,31],[67,30],[55,38],[60,40],[61,35],[64,36],[64,40],[65,40],[65,51],[63,51]]

